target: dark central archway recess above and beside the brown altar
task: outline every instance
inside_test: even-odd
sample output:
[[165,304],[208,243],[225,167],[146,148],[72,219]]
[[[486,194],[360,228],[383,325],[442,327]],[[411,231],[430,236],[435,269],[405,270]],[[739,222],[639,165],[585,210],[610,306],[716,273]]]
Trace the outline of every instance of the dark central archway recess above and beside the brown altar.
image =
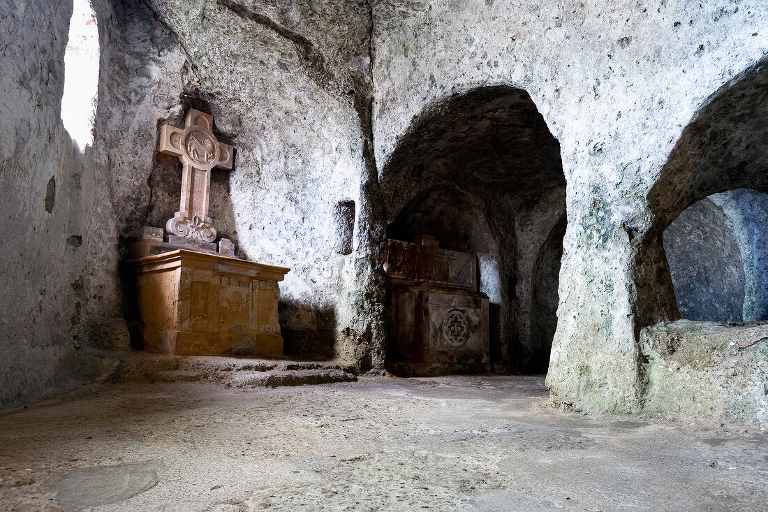
[[554,228],[564,218],[565,178],[560,145],[528,93],[477,88],[427,108],[400,139],[381,185],[389,238],[429,234],[443,248],[478,254],[497,367],[542,371],[557,319],[534,319],[534,274],[538,260],[559,268],[564,229]]

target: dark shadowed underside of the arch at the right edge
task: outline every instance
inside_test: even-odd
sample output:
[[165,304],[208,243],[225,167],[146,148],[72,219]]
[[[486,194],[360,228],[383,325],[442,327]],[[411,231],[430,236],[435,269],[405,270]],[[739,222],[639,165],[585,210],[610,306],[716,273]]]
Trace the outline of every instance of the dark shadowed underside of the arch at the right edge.
[[[723,85],[683,130],[647,199],[650,229],[636,241],[636,330],[680,318],[664,252],[664,230],[711,194],[768,191],[768,58]],[[705,299],[702,299],[705,300]]]

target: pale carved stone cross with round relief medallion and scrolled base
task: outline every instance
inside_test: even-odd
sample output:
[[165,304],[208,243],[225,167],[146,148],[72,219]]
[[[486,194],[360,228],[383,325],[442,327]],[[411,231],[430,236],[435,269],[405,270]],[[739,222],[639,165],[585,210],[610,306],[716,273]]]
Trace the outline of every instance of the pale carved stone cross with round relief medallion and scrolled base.
[[180,237],[212,242],[216,230],[208,217],[210,170],[232,168],[232,146],[214,137],[214,116],[190,108],[185,128],[171,125],[160,129],[160,152],[179,158],[181,202],[174,218],[165,223],[165,231]]

